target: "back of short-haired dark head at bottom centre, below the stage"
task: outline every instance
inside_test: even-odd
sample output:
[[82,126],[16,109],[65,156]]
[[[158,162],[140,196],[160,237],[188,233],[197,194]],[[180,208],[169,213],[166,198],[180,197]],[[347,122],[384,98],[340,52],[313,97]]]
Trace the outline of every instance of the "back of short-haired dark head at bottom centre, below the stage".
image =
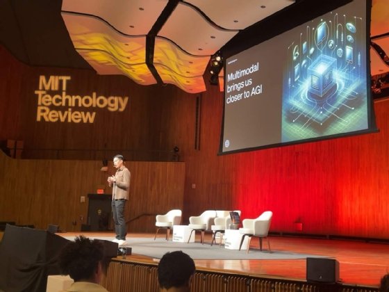
[[160,291],[190,291],[195,262],[188,254],[180,251],[167,252],[158,264],[158,284]]

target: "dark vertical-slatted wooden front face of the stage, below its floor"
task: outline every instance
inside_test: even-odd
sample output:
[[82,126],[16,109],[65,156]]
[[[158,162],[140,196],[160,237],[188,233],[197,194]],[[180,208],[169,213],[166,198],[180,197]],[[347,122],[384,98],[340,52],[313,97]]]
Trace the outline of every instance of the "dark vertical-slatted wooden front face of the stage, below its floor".
[[[108,274],[103,276],[101,285],[108,291],[159,291],[158,288],[158,266],[150,263],[136,263],[126,261],[122,263],[110,263]],[[294,281],[291,279],[266,279],[255,275],[222,274],[217,271],[204,270],[198,268],[194,277],[190,291],[193,292],[319,292],[319,291],[342,291],[342,292],[373,292],[378,291],[374,286],[359,286],[340,284],[320,284],[306,283],[304,281]]]

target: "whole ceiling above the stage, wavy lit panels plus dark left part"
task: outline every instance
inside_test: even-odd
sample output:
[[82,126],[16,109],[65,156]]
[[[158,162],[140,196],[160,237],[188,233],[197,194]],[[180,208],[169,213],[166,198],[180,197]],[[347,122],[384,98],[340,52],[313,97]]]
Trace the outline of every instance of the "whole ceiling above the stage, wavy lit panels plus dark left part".
[[[389,72],[388,0],[372,0],[372,76]],[[148,86],[206,90],[226,44],[271,15],[317,0],[0,0],[0,41],[31,66],[93,69]],[[386,57],[386,61],[385,61]],[[222,74],[222,70],[221,73]]]

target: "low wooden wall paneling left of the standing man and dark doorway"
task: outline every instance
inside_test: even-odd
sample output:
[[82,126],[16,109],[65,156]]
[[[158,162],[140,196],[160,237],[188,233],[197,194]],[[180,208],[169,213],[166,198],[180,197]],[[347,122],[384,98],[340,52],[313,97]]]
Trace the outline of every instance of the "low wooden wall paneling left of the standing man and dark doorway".
[[[88,166],[84,168],[83,164]],[[0,177],[1,193],[5,194],[2,218],[40,229],[60,225],[63,231],[74,230],[72,222],[80,224],[78,216],[86,218],[88,206],[80,202],[80,197],[94,193],[100,175],[96,162],[24,161],[1,154],[1,165],[7,169]]]

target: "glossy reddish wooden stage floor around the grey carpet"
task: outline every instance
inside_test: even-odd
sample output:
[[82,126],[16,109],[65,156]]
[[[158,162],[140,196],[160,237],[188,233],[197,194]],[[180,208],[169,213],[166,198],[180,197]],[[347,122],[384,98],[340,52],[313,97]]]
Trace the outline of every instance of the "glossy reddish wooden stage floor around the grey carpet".
[[[91,238],[114,238],[112,232],[67,232],[58,235],[69,238],[69,236],[78,236],[79,234]],[[129,238],[150,237],[151,240],[154,238],[154,234],[128,234],[127,236]],[[160,236],[163,236],[163,234],[159,234],[158,238],[160,238]],[[386,243],[300,238],[295,236],[270,236],[269,239],[272,250],[313,254],[337,259],[340,268],[340,281],[343,284],[377,287],[381,277],[386,273],[389,273],[389,244]],[[199,243],[200,238],[197,237],[196,241]],[[210,241],[210,234],[206,234],[204,244],[209,245]],[[263,247],[267,248],[266,241],[264,241]],[[253,238],[251,241],[251,248],[259,248],[258,239]],[[119,258],[121,259],[121,257]],[[155,263],[152,258],[140,254],[129,255],[124,261]],[[201,259],[195,260],[195,263],[196,267],[201,270],[210,270],[214,272],[236,273],[275,279],[306,280],[306,259]]]

